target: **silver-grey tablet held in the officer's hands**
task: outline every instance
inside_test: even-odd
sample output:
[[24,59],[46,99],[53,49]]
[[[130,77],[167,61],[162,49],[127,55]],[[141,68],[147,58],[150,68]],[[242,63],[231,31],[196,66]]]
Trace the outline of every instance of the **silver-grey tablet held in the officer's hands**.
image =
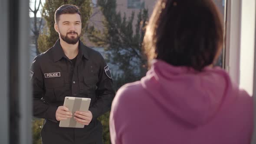
[[72,118],[60,121],[59,127],[84,128],[85,125],[76,122],[73,116],[75,111],[88,111],[90,102],[91,98],[65,97],[63,105],[72,112]]

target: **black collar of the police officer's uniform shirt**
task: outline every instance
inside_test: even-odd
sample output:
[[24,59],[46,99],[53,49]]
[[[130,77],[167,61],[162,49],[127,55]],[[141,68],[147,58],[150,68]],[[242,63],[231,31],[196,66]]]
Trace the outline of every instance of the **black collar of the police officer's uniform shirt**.
[[[82,56],[84,56],[85,59],[89,59],[87,49],[88,48],[86,46],[84,46],[84,44],[79,40],[79,52],[80,51],[82,52]],[[53,61],[57,62],[60,59],[62,59],[62,57],[66,57],[66,55],[65,55],[65,53],[60,45],[59,39],[58,39],[53,46]]]

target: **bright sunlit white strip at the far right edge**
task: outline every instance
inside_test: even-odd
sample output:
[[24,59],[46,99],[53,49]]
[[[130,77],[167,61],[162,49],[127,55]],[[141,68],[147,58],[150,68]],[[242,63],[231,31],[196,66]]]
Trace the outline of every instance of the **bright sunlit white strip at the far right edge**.
[[242,0],[240,41],[240,88],[253,95],[255,0]]

